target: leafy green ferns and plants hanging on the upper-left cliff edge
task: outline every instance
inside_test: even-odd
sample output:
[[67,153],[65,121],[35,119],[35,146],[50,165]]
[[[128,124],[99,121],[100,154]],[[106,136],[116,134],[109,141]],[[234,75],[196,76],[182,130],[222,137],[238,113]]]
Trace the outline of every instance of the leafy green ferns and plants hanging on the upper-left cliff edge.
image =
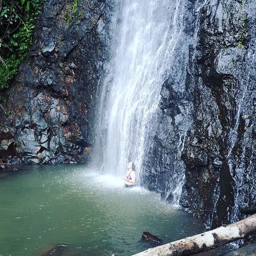
[[0,90],[7,88],[25,58],[43,0],[3,0],[0,9]]

